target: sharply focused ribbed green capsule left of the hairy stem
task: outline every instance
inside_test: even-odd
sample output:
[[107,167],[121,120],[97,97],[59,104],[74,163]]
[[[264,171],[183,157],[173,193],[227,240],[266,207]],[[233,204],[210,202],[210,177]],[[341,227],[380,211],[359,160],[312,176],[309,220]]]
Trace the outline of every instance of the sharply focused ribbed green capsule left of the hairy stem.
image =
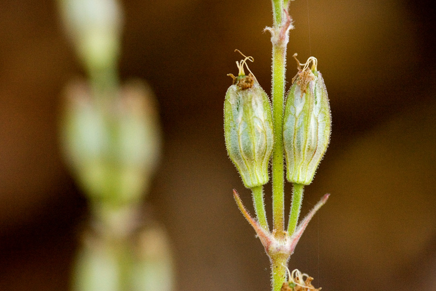
[[[244,56],[245,57],[245,56]],[[245,57],[236,65],[238,77],[229,87],[224,102],[224,133],[227,152],[247,188],[268,182],[268,163],[274,146],[271,105],[253,74],[247,76]],[[247,66],[248,68],[248,66]]]

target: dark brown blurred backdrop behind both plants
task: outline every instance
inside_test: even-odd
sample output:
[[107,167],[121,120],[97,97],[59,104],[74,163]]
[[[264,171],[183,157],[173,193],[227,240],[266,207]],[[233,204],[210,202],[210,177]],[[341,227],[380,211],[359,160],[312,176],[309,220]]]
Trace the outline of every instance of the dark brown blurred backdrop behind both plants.
[[[306,188],[312,220],[290,267],[323,290],[436,290],[432,1],[297,0],[289,55],[314,55],[333,128]],[[164,156],[148,202],[168,229],[177,291],[266,291],[269,267],[238,213],[222,104],[240,49],[270,92],[267,0],[125,0],[120,71],[155,89]],[[296,73],[289,60],[288,80]],[[68,290],[83,195],[59,155],[62,89],[83,75],[53,1],[0,1],[0,290]],[[268,187],[269,188],[269,187]],[[286,192],[291,188],[287,186]],[[289,195],[287,196],[289,204]],[[269,205],[269,204],[268,204]]]

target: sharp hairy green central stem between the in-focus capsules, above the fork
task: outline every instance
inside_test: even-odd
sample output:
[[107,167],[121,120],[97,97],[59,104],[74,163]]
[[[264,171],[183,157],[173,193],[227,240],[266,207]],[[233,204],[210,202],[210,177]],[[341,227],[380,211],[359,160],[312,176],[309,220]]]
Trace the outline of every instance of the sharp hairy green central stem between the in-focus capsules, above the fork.
[[[283,20],[283,0],[272,0],[274,13],[273,37],[281,29]],[[274,151],[272,158],[272,199],[273,199],[273,228],[275,237],[283,238],[284,230],[284,175],[283,175],[283,99],[285,84],[287,37],[272,41],[272,104],[274,122]]]

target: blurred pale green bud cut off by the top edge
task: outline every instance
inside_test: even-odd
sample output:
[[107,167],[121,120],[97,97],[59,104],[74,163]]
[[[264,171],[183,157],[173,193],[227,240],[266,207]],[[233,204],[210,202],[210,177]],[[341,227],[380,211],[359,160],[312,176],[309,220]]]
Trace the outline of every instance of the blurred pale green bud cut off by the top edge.
[[65,28],[90,70],[118,61],[122,13],[117,0],[58,0]]

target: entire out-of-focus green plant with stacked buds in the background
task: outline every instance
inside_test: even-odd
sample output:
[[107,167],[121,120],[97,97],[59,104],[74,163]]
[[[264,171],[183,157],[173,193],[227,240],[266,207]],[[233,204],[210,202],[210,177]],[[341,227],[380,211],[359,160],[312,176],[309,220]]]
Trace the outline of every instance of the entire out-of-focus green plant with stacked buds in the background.
[[116,0],[59,0],[66,32],[88,79],[66,89],[65,161],[87,196],[76,291],[170,291],[167,235],[143,207],[158,162],[156,102],[142,81],[120,84],[122,10]]

